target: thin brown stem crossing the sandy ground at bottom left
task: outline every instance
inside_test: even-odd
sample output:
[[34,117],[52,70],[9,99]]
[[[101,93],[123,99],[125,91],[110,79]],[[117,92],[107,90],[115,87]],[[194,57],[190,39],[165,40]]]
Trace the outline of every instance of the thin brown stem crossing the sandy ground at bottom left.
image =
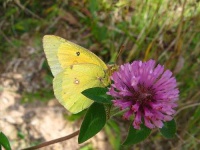
[[69,140],[69,139],[77,136],[78,134],[79,134],[79,130],[70,134],[70,135],[67,135],[67,136],[64,136],[64,137],[61,137],[61,138],[58,138],[58,139],[55,139],[55,140],[47,141],[47,142],[41,143],[39,145],[28,147],[28,148],[25,148],[25,149],[22,149],[22,150],[34,150],[34,149],[46,147],[46,146],[49,146],[51,144],[55,144],[55,143],[59,143],[59,142],[62,142],[62,141]]

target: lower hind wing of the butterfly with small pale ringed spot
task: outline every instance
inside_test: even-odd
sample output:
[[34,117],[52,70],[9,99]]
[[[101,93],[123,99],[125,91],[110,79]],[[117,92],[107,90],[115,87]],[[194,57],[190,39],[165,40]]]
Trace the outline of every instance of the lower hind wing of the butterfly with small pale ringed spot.
[[88,108],[93,102],[82,95],[82,91],[92,87],[105,87],[108,84],[107,72],[95,64],[75,64],[66,67],[53,80],[56,98],[72,113]]

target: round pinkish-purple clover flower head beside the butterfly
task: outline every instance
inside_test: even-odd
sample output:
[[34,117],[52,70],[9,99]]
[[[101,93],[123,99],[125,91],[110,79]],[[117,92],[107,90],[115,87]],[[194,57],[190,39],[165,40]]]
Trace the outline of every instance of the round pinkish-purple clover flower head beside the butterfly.
[[140,129],[143,120],[152,129],[162,128],[163,122],[173,119],[179,90],[172,72],[164,71],[164,66],[155,67],[154,60],[134,61],[121,65],[111,79],[114,83],[108,94],[115,106],[127,109],[123,118],[129,120],[135,115],[135,129]]

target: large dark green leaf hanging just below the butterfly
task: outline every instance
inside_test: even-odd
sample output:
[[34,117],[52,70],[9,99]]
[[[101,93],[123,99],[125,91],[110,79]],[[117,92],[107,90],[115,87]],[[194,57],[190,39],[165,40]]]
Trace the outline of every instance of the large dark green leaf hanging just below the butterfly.
[[78,143],[83,143],[96,135],[106,123],[106,112],[104,105],[100,103],[93,103],[83,120],[81,125]]

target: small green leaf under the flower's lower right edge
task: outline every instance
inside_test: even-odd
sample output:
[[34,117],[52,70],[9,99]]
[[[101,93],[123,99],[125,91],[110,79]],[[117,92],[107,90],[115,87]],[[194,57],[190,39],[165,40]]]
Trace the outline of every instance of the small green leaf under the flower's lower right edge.
[[176,133],[176,122],[171,120],[164,123],[162,129],[160,129],[161,134],[166,138],[173,138]]

